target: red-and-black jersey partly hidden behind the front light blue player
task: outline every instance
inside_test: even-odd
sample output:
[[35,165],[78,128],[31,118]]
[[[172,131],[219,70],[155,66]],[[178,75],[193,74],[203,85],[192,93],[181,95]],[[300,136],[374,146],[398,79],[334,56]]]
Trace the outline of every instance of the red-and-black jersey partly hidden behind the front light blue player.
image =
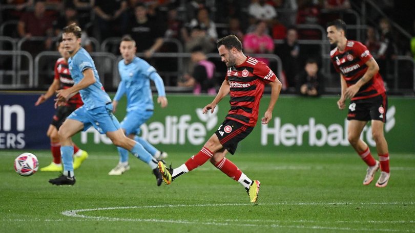
[[[68,62],[65,61],[64,58],[59,58],[56,61],[54,79],[59,80],[60,86],[63,89],[68,89],[74,84],[74,81],[69,72]],[[75,105],[76,108],[84,105],[84,102],[82,102],[79,92],[68,100],[67,105]]]

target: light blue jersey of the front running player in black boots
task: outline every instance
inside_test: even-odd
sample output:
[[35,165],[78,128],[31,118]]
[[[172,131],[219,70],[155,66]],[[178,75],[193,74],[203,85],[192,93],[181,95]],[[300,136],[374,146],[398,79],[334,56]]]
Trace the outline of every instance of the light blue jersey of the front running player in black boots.
[[91,110],[111,103],[111,98],[108,96],[107,92],[105,92],[101,82],[99,81],[94,61],[84,48],[80,48],[73,57],[70,57],[68,64],[69,71],[71,72],[71,76],[75,84],[84,78],[82,72],[84,72],[85,69],[90,68],[94,72],[95,83],[85,89],[79,90],[82,101],[84,101],[84,108]]

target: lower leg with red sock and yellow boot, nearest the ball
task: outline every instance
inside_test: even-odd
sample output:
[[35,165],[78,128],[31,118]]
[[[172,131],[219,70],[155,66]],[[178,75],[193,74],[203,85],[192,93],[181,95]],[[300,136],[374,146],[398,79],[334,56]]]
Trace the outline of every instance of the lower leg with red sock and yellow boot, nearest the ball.
[[52,152],[53,160],[50,165],[40,168],[42,172],[60,172],[62,171],[61,159],[60,159],[60,142],[57,134],[56,126],[49,125],[46,133],[50,138],[50,150]]

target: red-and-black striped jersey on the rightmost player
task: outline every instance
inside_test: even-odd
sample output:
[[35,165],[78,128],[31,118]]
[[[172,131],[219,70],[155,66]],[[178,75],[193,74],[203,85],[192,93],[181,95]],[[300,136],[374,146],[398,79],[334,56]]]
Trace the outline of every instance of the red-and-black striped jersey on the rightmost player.
[[[344,51],[340,52],[336,47],[330,51],[330,58],[336,71],[343,75],[347,86],[351,86],[366,73],[366,62],[372,58],[372,55],[361,42],[347,40]],[[351,100],[375,97],[383,94],[385,91],[382,77],[378,72],[359,89]]]

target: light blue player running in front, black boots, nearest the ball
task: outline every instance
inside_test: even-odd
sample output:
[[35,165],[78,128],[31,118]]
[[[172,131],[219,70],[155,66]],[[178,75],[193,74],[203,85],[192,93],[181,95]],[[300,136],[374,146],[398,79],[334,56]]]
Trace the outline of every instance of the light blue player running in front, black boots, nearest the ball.
[[157,168],[157,160],[144,149],[141,144],[126,137],[118,120],[112,114],[112,102],[99,81],[98,72],[89,53],[81,48],[81,29],[76,24],[64,28],[62,35],[65,49],[71,57],[68,64],[75,84],[68,89],[57,91],[55,106],[63,105],[78,91],[84,105],[72,112],[64,124],[59,128],[60,152],[64,164],[64,172],[56,179],[49,180],[56,185],[75,184],[73,173],[73,143],[72,136],[94,126],[101,134],[106,134],[114,145],[130,151],[133,155],[146,162],[156,176],[157,185],[161,184],[162,177]]

